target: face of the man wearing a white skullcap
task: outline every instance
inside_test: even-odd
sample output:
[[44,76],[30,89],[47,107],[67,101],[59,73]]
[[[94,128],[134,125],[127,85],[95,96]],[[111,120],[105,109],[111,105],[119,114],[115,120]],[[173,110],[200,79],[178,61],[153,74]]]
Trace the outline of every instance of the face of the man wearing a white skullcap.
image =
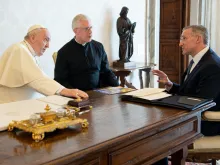
[[47,48],[49,48],[50,33],[47,29],[42,29],[34,38],[33,49],[37,56],[42,56]]

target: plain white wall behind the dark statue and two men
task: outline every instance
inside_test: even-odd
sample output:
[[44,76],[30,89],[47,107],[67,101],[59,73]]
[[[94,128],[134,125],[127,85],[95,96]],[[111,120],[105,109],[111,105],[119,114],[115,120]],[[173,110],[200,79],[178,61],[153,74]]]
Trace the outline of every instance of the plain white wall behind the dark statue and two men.
[[93,38],[103,43],[112,62],[118,59],[116,20],[123,6],[129,8],[130,20],[137,22],[131,60],[143,62],[145,0],[0,0],[0,55],[11,44],[23,40],[29,26],[43,24],[50,30],[52,40],[40,61],[44,71],[53,77],[51,55],[74,36],[72,18],[84,13],[93,22]]

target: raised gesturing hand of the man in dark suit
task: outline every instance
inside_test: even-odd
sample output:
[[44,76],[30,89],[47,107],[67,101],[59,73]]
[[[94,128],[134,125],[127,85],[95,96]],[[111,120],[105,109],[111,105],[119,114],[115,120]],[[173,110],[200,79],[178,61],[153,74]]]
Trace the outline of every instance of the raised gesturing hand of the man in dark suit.
[[172,87],[173,83],[169,80],[168,76],[161,70],[152,70],[153,75],[159,77],[157,82],[164,84],[166,87]]

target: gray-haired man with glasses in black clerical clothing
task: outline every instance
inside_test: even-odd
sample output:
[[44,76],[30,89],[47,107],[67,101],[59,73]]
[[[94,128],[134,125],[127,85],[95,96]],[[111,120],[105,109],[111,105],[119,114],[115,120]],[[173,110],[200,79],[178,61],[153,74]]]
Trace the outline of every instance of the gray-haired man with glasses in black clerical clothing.
[[81,90],[118,86],[103,45],[92,40],[89,18],[77,15],[72,29],[75,37],[58,51],[54,79],[65,87]]

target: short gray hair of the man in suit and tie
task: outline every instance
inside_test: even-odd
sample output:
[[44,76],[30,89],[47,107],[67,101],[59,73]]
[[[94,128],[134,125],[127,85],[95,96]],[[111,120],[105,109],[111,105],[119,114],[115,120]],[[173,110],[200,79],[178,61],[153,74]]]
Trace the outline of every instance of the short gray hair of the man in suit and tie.
[[186,30],[186,29],[192,29],[192,35],[201,35],[202,38],[203,38],[203,43],[205,45],[208,45],[209,44],[209,33],[208,33],[208,30],[205,26],[202,26],[202,25],[190,25],[190,26],[187,26],[185,28],[183,28],[183,31]]

